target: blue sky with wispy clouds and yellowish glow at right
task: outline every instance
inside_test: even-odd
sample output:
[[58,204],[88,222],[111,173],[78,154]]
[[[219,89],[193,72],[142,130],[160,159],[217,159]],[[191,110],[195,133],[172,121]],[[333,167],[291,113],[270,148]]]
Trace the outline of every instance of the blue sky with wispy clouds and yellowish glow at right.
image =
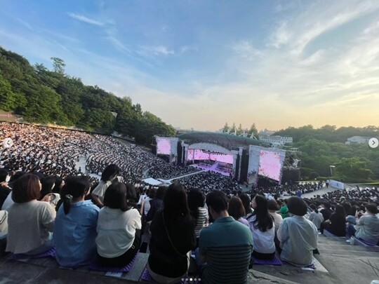
[[0,46],[176,128],[379,125],[379,1],[6,1]]

